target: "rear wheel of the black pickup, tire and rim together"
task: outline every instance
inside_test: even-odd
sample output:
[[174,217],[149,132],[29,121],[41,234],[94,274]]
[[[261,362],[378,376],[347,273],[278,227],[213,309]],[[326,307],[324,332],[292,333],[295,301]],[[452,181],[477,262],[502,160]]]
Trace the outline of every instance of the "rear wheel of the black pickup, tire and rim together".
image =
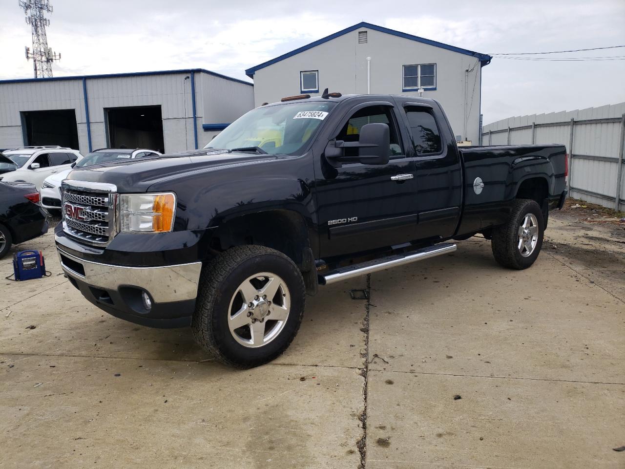
[[516,199],[507,223],[492,229],[492,255],[504,267],[526,269],[541,251],[543,234],[540,206],[530,199]]

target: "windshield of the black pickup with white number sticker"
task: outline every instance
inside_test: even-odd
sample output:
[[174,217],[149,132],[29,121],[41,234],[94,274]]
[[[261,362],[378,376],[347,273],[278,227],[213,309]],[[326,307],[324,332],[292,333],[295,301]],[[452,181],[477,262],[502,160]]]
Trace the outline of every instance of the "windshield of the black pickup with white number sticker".
[[204,148],[248,148],[266,153],[302,153],[336,103],[292,103],[256,108],[226,127]]

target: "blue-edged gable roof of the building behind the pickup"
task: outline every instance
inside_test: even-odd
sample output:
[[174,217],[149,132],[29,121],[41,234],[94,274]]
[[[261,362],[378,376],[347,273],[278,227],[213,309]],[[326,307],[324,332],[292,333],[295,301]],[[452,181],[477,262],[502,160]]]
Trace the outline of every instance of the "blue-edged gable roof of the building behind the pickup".
[[282,54],[275,59],[268,60],[259,64],[255,67],[248,68],[245,71],[245,74],[249,76],[249,78],[254,78],[254,73],[261,68],[268,67],[276,62],[282,61],[294,55],[300,54],[308,49],[312,49],[320,44],[327,43],[327,41],[332,41],[332,39],[336,39],[343,34],[351,33],[352,31],[356,31],[356,29],[367,28],[373,29],[374,31],[379,31],[381,33],[392,34],[392,36],[397,36],[398,38],[410,39],[411,41],[416,41],[417,43],[428,44],[429,46],[434,46],[441,49],[447,49],[448,51],[457,52],[459,54],[465,54],[467,56],[475,57],[479,59],[481,66],[487,65],[490,63],[492,57],[487,54],[481,54],[479,52],[469,51],[468,49],[457,48],[456,46],[450,46],[449,44],[439,43],[437,41],[432,41],[431,39],[419,38],[419,36],[413,36],[412,34],[402,33],[401,31],[395,31],[394,29],[383,28],[382,26],[377,26],[377,24],[366,23],[362,21],[361,23],[354,24],[354,26],[349,26],[349,28],[341,29],[341,31],[337,31],[334,34],[330,34],[325,38],[318,39],[310,44],[306,44],[306,46],[302,46],[301,48],[295,49],[291,52],[287,52],[286,54]]

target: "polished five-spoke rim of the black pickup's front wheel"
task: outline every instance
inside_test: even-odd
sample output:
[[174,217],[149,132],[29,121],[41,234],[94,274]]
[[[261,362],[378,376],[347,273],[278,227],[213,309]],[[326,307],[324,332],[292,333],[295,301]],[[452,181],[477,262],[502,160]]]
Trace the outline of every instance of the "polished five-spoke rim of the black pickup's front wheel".
[[256,348],[274,340],[291,310],[291,296],[279,276],[261,272],[244,280],[228,308],[228,327],[234,340]]

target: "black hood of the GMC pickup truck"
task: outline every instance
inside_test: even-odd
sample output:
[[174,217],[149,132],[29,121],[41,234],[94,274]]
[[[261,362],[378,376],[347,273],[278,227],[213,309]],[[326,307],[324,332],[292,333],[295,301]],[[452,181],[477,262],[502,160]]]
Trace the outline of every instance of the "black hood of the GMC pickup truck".
[[284,158],[284,155],[226,153],[223,150],[201,149],[186,153],[162,154],[151,158],[124,159],[88,168],[74,168],[66,182],[88,181],[115,184],[119,193],[145,192],[155,183],[181,174],[216,171],[232,166],[263,163]]

